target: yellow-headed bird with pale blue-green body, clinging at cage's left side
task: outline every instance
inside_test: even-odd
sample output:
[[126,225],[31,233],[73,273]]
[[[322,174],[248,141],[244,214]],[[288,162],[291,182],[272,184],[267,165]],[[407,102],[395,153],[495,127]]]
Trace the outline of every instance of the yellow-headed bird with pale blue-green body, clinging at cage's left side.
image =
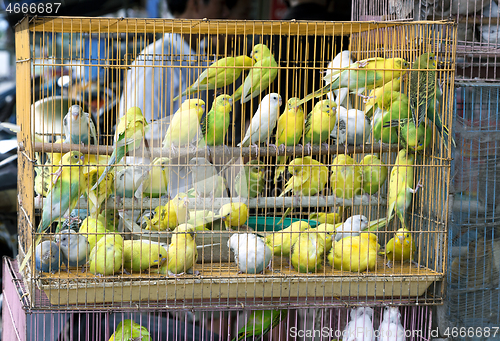
[[62,164],[52,178],[52,188],[43,201],[38,233],[45,232],[54,221],[65,214],[69,215],[76,207],[84,181],[83,160],[83,154],[77,151],[68,152],[62,157]]

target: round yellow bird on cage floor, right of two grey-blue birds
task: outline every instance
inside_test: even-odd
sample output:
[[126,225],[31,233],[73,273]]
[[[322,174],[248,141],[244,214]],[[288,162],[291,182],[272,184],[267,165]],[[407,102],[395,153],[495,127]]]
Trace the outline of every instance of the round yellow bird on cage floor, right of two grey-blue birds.
[[122,255],[123,238],[118,234],[108,234],[90,251],[89,271],[94,275],[113,275],[122,267]]

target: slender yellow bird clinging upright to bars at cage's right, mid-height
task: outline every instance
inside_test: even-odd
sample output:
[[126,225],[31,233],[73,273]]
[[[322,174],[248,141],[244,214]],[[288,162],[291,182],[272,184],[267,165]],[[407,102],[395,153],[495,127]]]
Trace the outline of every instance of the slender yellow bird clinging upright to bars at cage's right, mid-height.
[[406,227],[406,210],[411,205],[412,194],[422,186],[419,182],[415,189],[411,188],[414,181],[414,163],[414,155],[405,149],[400,150],[389,176],[387,219],[391,221],[395,212],[403,227]]

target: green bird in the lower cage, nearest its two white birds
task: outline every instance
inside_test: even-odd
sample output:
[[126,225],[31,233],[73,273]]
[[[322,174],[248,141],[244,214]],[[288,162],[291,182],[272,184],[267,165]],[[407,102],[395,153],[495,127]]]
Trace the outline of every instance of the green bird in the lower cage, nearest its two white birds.
[[250,313],[247,324],[238,330],[238,335],[232,341],[242,341],[254,338],[262,339],[287,316],[286,310],[255,310]]

